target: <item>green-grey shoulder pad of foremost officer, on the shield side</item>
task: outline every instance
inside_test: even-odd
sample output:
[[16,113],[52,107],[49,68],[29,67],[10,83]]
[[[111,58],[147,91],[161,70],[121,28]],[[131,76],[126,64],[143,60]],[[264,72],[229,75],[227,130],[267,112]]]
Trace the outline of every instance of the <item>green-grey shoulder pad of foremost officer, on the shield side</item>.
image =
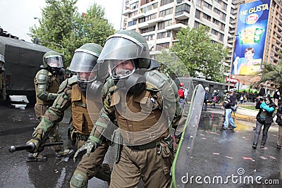
[[154,92],[161,92],[164,99],[175,102],[178,101],[178,88],[176,82],[171,77],[167,77],[164,73],[158,70],[152,70],[145,73],[146,89]]

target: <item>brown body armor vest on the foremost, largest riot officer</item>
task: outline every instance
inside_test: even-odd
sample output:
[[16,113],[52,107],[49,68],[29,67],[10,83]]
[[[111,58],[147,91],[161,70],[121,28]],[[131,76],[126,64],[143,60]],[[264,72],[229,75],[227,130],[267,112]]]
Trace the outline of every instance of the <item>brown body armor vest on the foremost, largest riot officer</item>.
[[168,121],[157,100],[161,99],[148,90],[137,96],[125,96],[120,90],[112,93],[111,106],[125,143],[138,145],[148,137],[152,137],[151,142],[167,137]]

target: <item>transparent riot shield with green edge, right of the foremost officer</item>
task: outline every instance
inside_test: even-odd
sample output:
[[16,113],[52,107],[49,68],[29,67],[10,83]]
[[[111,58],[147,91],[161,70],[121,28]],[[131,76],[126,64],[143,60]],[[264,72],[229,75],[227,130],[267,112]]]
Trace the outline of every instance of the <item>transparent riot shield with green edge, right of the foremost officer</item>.
[[188,118],[178,144],[176,156],[172,166],[171,187],[185,187],[182,177],[188,173],[188,167],[192,156],[192,150],[202,113],[204,102],[204,88],[198,84],[192,94],[192,100],[188,111]]

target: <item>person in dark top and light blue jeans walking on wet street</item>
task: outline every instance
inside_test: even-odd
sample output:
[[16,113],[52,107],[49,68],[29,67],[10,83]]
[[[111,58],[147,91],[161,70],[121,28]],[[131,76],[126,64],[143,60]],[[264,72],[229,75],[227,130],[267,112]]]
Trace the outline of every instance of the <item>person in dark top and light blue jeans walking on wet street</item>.
[[228,96],[226,97],[226,100],[223,103],[223,106],[221,108],[225,108],[225,120],[223,123],[223,130],[227,130],[228,125],[230,123],[231,127],[234,129],[237,127],[234,123],[233,118],[231,117],[232,113],[232,106],[235,106],[236,99],[233,89],[228,90]]

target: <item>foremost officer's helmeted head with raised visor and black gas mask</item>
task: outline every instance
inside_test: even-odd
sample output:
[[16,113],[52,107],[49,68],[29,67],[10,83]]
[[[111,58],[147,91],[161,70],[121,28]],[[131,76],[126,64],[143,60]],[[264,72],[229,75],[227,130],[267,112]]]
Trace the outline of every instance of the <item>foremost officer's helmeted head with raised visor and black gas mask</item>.
[[119,86],[130,87],[133,93],[145,87],[145,71],[150,66],[149,47],[146,39],[132,30],[116,32],[106,39],[97,63],[109,65],[111,75]]

